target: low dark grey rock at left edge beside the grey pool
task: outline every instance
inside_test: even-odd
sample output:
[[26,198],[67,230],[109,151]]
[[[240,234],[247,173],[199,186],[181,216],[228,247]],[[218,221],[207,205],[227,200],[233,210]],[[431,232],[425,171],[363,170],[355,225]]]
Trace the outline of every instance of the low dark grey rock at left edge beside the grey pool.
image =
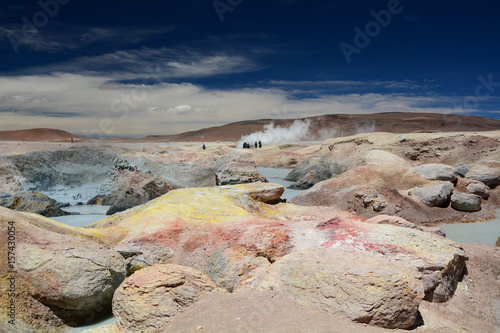
[[39,192],[18,192],[14,195],[0,193],[0,206],[20,212],[35,213],[48,217],[64,216],[70,213],[61,209],[62,204]]

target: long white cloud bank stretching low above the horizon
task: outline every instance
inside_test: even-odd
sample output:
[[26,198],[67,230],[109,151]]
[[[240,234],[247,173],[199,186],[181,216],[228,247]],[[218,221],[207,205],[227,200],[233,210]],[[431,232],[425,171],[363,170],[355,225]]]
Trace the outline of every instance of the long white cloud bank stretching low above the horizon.
[[230,122],[377,112],[454,113],[461,98],[403,94],[318,95],[282,89],[206,89],[191,83],[109,84],[76,74],[0,77],[0,130],[52,127],[75,134],[174,134]]

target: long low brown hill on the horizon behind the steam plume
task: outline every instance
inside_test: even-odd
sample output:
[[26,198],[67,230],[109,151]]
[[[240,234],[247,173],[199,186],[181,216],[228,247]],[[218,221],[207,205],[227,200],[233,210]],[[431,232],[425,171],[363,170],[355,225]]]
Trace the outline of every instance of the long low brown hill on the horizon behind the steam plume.
[[[329,114],[301,118],[301,120],[306,119],[311,121],[312,137],[331,130],[335,130],[336,136],[348,136],[361,132],[411,133],[500,130],[500,120],[436,113]],[[238,141],[243,135],[262,131],[267,124],[274,123],[276,127],[288,127],[294,120],[260,119],[240,121],[176,135],[150,135],[145,140],[164,142]]]

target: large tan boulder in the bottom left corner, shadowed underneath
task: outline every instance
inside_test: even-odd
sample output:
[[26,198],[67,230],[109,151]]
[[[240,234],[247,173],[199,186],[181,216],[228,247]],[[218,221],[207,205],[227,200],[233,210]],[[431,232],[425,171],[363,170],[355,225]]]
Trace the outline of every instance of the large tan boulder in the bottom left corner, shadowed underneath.
[[[94,242],[92,230],[68,227],[34,214],[0,207],[0,232],[14,239],[16,327],[52,332],[64,325],[95,320],[111,309],[113,293],[125,278],[123,257]],[[7,246],[0,249],[7,258]],[[12,274],[7,260],[0,263],[1,285]],[[3,287],[2,287],[3,288]],[[9,301],[2,289],[1,302]],[[5,320],[4,313],[0,316]]]

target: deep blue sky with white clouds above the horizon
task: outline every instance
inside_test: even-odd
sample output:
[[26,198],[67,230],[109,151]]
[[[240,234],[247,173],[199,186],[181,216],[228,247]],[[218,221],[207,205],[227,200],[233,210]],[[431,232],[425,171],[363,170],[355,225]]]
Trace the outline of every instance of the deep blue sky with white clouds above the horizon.
[[394,111],[500,119],[496,1],[0,6],[0,130],[143,136]]

